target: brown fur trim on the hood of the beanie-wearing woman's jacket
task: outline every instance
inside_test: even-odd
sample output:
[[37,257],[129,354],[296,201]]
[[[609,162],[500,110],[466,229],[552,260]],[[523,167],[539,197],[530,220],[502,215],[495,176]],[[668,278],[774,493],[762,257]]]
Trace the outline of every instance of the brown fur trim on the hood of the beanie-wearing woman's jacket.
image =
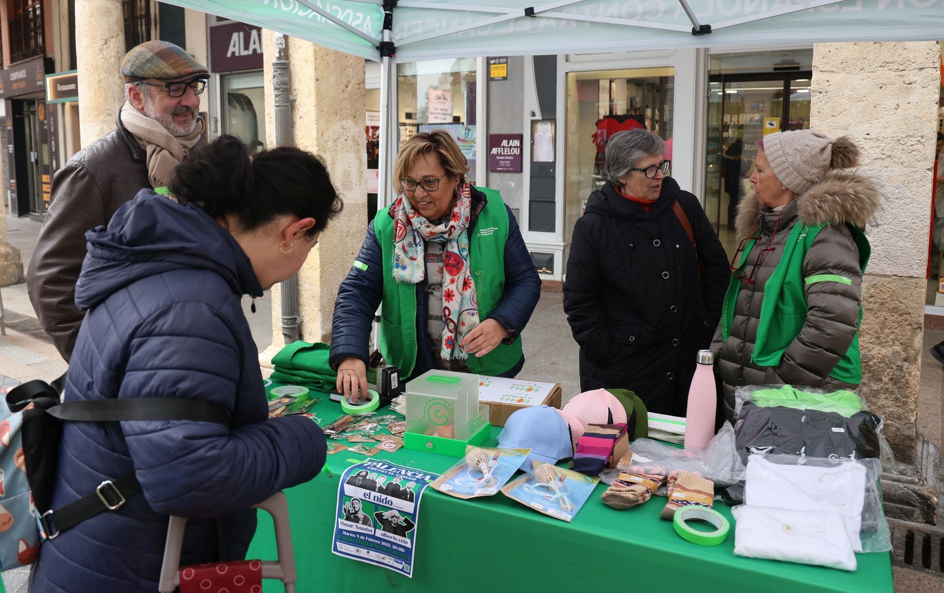
[[[851,171],[831,171],[797,198],[797,218],[803,224],[851,222],[865,226],[879,209],[879,192],[868,177]],[[761,211],[753,191],[737,206],[737,234],[746,237]]]

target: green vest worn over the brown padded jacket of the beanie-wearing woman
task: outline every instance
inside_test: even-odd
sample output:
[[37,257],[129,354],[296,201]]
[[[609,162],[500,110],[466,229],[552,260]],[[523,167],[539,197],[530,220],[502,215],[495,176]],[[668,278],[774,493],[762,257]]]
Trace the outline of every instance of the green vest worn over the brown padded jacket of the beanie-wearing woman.
[[[852,238],[859,247],[859,266],[862,272],[866,271],[868,256],[871,247],[865,233],[854,224],[847,224]],[[784,243],[784,255],[774,269],[767,285],[764,287],[764,300],[761,303],[760,322],[757,327],[757,342],[754,344],[753,362],[759,367],[776,367],[787,346],[800,335],[803,323],[806,322],[806,293],[807,285],[817,282],[842,282],[849,284],[849,278],[835,274],[818,274],[803,277],[803,259],[810,250],[813,241],[826,224],[807,226],[796,224],[790,236]],[[738,270],[747,264],[750,250],[756,241],[748,241],[744,254],[738,263]],[[731,335],[731,325],[734,320],[734,304],[737,293],[741,289],[741,281],[732,274],[731,284],[724,297],[721,310],[721,337],[727,340]],[[859,305],[859,324],[862,323],[862,305]],[[862,359],[859,356],[859,333],[855,337],[846,354],[839,360],[829,374],[837,381],[857,385],[862,383]]]

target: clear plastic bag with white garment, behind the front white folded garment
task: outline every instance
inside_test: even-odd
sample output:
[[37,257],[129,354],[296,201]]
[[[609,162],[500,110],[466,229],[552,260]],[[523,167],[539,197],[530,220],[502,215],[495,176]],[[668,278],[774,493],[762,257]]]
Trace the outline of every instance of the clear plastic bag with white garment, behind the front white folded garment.
[[888,552],[891,533],[882,508],[878,459],[750,455],[744,502],[794,511],[836,512],[853,552]]

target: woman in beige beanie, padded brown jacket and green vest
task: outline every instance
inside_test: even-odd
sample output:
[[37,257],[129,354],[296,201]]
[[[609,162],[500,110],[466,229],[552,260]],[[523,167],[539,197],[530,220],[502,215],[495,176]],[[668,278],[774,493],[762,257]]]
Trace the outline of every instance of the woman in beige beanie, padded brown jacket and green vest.
[[846,171],[859,148],[813,130],[770,134],[757,146],[754,192],[738,206],[742,240],[712,344],[728,420],[738,386],[836,390],[862,381],[863,228],[879,195],[868,178]]

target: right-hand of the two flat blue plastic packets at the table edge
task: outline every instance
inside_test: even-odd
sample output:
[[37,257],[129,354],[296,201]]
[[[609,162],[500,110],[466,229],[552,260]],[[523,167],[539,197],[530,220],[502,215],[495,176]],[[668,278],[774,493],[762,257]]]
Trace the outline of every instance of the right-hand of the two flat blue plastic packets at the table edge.
[[569,522],[598,482],[599,478],[546,463],[505,485],[501,493],[554,519]]

